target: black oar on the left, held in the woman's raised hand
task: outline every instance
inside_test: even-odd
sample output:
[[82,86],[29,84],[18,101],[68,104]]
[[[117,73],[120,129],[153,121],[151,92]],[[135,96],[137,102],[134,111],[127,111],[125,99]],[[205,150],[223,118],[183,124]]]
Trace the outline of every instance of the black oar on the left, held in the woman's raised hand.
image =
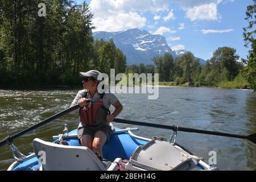
[[[90,101],[88,101],[88,102],[90,102]],[[9,142],[13,142],[14,139],[19,138],[22,135],[27,134],[28,132],[37,129],[40,126],[46,125],[48,122],[51,122],[54,119],[57,119],[57,118],[63,116],[64,114],[70,113],[71,111],[73,111],[75,109],[78,109],[79,107],[80,106],[78,104],[75,105],[75,106],[69,107],[68,109],[65,109],[64,111],[61,111],[60,113],[57,113],[57,114],[53,115],[52,117],[44,119],[44,121],[42,121],[42,122],[40,122],[40,123],[38,123],[34,126],[31,126],[26,130],[20,131],[19,133],[15,134],[15,135],[12,135],[11,137],[7,137],[6,139],[1,140],[0,141],[0,147],[3,146],[4,144],[9,143]]]

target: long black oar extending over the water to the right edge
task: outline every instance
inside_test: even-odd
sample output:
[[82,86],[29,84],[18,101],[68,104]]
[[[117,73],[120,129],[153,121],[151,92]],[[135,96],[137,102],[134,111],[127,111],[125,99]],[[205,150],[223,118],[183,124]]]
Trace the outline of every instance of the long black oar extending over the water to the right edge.
[[209,134],[209,135],[218,135],[218,136],[223,136],[223,137],[243,138],[243,139],[250,140],[253,143],[256,143],[256,133],[248,135],[248,136],[243,136],[243,135],[236,135],[236,134],[229,134],[229,133],[220,133],[217,131],[197,130],[197,129],[189,129],[186,127],[167,126],[167,125],[159,125],[159,124],[154,124],[154,123],[130,121],[130,120],[119,119],[119,118],[115,118],[114,122],[126,123],[126,124],[130,124],[130,125],[156,127],[159,129],[167,129],[167,130],[174,130],[174,131],[179,130],[179,131],[184,131],[184,132],[189,132],[189,133],[201,133],[201,134]]

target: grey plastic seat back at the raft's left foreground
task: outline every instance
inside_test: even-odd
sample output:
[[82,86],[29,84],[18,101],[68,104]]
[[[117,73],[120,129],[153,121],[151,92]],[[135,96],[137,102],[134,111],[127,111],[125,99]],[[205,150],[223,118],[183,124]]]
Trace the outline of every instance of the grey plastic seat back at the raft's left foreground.
[[35,138],[33,148],[45,171],[105,171],[116,165],[101,162],[88,147],[64,146]]

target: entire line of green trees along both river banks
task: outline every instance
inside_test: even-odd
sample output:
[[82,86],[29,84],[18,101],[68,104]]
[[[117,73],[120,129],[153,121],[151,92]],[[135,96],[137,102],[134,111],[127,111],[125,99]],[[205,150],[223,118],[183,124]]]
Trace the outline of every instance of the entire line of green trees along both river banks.
[[[174,59],[170,53],[153,57],[154,64],[126,65],[126,56],[113,40],[93,40],[93,14],[74,0],[0,1],[0,87],[79,85],[79,72],[159,73],[159,81],[176,85],[217,86],[220,82],[249,82],[256,89],[255,9],[247,6],[243,29],[247,60],[238,62],[236,49],[220,47],[205,65],[191,52]],[[46,16],[38,5],[46,4]],[[245,81],[246,78],[246,81]]]

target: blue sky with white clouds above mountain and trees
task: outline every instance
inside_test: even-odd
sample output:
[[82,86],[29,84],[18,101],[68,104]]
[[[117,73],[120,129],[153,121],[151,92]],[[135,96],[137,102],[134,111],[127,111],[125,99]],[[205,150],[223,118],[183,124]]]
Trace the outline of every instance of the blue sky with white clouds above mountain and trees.
[[[77,0],[81,3],[83,0]],[[252,0],[86,0],[94,14],[94,31],[140,28],[161,34],[175,50],[210,59],[218,47],[237,49],[246,58],[242,28]]]

